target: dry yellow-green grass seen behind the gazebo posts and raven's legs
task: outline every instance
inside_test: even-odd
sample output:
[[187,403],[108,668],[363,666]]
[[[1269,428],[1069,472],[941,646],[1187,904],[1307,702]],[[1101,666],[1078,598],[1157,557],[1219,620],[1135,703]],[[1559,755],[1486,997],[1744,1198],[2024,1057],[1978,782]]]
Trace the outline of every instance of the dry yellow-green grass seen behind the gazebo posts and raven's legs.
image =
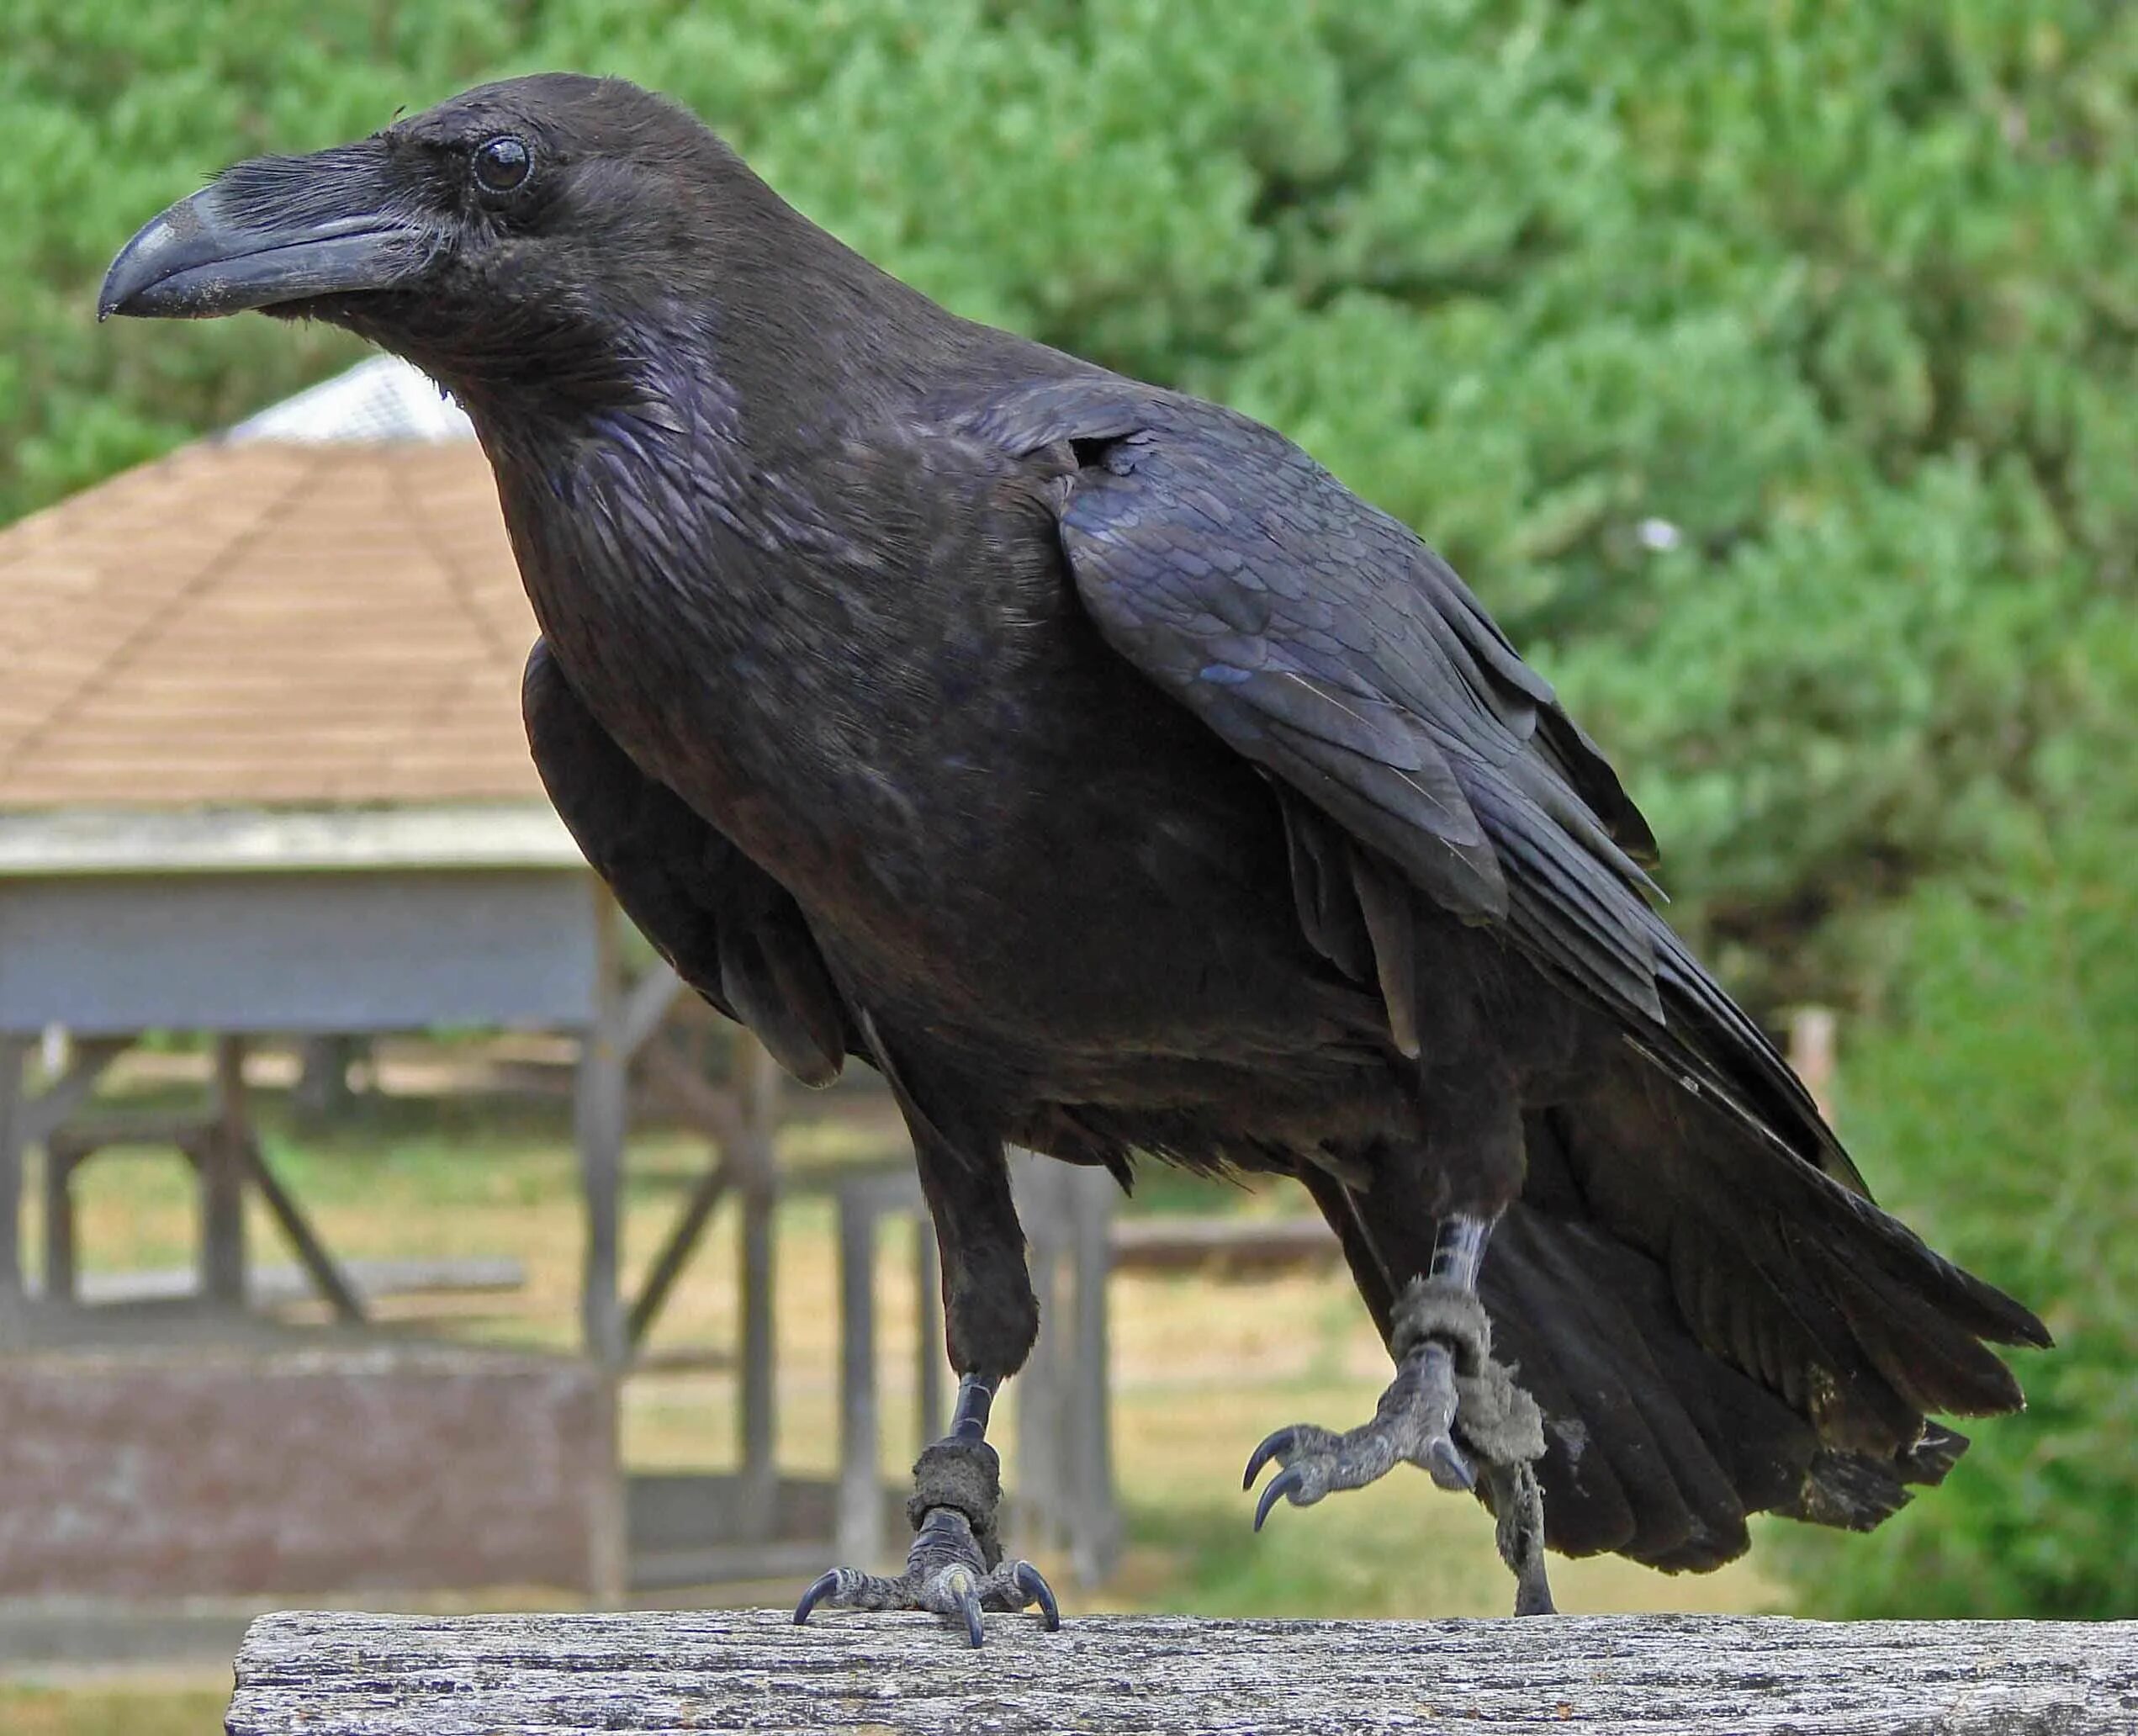
[[[154,1056],[120,1075],[130,1105],[184,1101],[188,1058]],[[265,1069],[263,1069],[265,1071]],[[280,1095],[259,1092],[267,1154],[344,1257],[509,1255],[528,1283],[509,1296],[393,1298],[381,1317],[408,1330],[483,1343],[567,1349],[577,1332],[579,1214],[569,1105],[560,1099],[428,1088],[421,1054],[387,1071],[393,1095],[370,1099],[331,1133],[291,1127]],[[432,1080],[451,1084],[451,1080]],[[795,1095],[780,1137],[789,1172],[881,1159],[902,1150],[887,1099],[870,1092]],[[650,1129],[633,1140],[624,1193],[626,1281],[650,1259],[703,1148]],[[32,1191],[34,1195],[34,1191]],[[1157,1174],[1129,1210],[1300,1210],[1287,1193]],[[184,1264],[192,1251],[192,1191],[171,1152],[113,1150],[77,1176],[86,1270]],[[254,1214],[257,1259],[286,1259],[274,1225]],[[36,1225],[26,1225],[36,1246]],[[911,1462],[917,1311],[904,1231],[887,1236],[881,1274],[885,1475]],[[654,1349],[721,1351],[735,1340],[733,1221],[714,1219],[697,1266],[678,1285]],[[827,1473],[836,1456],[836,1311],[832,1208],[802,1193],[780,1212],[778,1351],[783,1467]],[[310,1308],[293,1311],[297,1315]],[[1120,1569],[1090,1591],[1063,1584],[1075,1610],[1180,1610],[1214,1616],[1503,1614],[1509,1586],[1490,1520],[1422,1477],[1313,1509],[1279,1509],[1257,1537],[1240,1492],[1249,1447],[1296,1420],[1351,1422],[1373,1411],[1388,1360],[1341,1274],[1261,1283],[1122,1274],[1112,1285],[1116,1475],[1125,1503]],[[1005,1462],[1016,1484],[1016,1383],[1005,1394]],[[624,1392],[624,1458],[639,1469],[721,1469],[733,1462],[735,1402],[718,1358],[633,1377]],[[1067,1580],[1065,1563],[1063,1580]],[[1567,1610],[1757,1610],[1772,1586],[1736,1565],[1668,1580],[1616,1559],[1559,1563]],[[723,1588],[763,1601],[789,1586]],[[210,1732],[227,1674],[128,1687],[0,1685],[9,1736],[165,1736]]]

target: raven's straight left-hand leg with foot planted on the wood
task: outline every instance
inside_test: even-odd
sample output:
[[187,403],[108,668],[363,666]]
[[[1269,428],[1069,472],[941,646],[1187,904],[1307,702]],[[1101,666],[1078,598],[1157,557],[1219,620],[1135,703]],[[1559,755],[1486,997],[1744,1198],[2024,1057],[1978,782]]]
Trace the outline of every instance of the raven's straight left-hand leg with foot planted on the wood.
[[996,1388],[1024,1366],[1039,1332],[1039,1302],[1024,1266],[1024,1231],[1009,1197],[998,1144],[951,1148],[936,1122],[909,1110],[921,1191],[943,1249],[943,1315],[958,1407],[949,1435],[913,1467],[913,1548],[896,1578],[834,1567],[795,1606],[806,1623],[819,1603],[847,1610],[932,1610],[981,1640],[981,1610],[1039,1606],[1060,1627],[1054,1593],[1028,1561],[1003,1561],[996,1535],[1003,1475],[988,1445]]

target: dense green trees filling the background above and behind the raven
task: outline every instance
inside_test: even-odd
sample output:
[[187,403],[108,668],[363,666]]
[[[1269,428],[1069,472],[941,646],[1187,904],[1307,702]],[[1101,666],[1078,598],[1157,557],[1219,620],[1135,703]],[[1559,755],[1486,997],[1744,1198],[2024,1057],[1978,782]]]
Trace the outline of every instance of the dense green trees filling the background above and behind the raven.
[[962,312],[1276,421],[1432,537],[1627,768],[1732,981],[1892,998],[1852,1069],[1873,1180],[2072,1311],[1877,1595],[2014,1563],[1982,1603],[2127,1606],[2055,1520],[2112,1541],[2138,1486],[2082,1439],[2129,1422],[2138,1001],[2089,936],[2132,887],[2093,810],[2138,691],[2138,9],[13,0],[0,520],[355,355],[94,329],[141,218],[539,66],[676,94]]

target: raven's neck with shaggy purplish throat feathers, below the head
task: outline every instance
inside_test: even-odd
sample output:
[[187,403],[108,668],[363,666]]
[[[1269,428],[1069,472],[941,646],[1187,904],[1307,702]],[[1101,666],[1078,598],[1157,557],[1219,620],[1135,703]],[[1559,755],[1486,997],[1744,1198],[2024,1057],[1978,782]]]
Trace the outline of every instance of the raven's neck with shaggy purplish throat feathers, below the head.
[[840,477],[962,336],[887,278],[802,265],[652,299],[599,393],[468,402],[573,686],[641,763],[688,757],[735,802],[808,776],[793,718],[851,708],[840,669],[896,652],[904,562]]

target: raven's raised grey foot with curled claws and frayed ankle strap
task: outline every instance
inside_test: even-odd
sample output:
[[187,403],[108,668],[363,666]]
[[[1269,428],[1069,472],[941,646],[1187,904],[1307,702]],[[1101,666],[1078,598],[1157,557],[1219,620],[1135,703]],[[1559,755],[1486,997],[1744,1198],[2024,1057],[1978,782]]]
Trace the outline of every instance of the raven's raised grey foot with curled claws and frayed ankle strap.
[[1255,1529],[1279,1501],[1311,1507],[1326,1494],[1364,1488],[1396,1464],[1417,1464],[1441,1488],[1475,1490],[1499,1516],[1499,1552],[1516,1576],[1516,1614],[1550,1614],[1544,1578],[1544,1413],[1492,1362],[1492,1328],[1475,1291],[1445,1278],[1413,1278],[1396,1300],[1396,1379],[1373,1422],[1343,1435],[1311,1422],[1272,1432],[1246,1460],[1242,1488],[1270,1462],[1279,1473],[1255,1503]]

